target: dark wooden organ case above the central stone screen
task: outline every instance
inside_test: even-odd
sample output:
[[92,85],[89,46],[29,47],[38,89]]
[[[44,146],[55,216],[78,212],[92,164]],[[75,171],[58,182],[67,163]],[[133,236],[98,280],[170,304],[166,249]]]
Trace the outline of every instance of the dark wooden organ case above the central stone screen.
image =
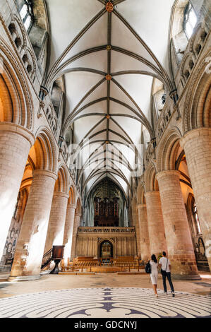
[[100,227],[119,226],[119,197],[104,198],[95,197],[94,225]]

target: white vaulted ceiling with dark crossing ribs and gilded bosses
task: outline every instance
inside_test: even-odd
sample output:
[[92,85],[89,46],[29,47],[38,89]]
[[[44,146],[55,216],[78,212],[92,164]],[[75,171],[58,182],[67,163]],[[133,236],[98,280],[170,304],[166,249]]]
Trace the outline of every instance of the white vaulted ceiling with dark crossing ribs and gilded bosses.
[[[154,137],[153,79],[167,92],[172,90],[167,49],[173,4],[174,0],[47,0],[52,45],[46,86],[64,76],[62,134],[74,124],[74,143],[80,145],[79,159],[85,165],[78,179],[83,175],[86,192],[104,177],[126,193],[131,190],[135,161],[142,164],[141,149],[137,150],[141,132],[147,141]],[[106,153],[106,148],[112,152]]]

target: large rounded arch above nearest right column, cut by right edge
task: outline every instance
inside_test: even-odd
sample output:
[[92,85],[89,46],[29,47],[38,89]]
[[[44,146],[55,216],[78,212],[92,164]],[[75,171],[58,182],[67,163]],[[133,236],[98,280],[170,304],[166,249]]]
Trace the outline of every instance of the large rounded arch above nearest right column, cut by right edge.
[[207,52],[193,73],[184,106],[183,134],[192,129],[211,127],[210,59],[211,52]]

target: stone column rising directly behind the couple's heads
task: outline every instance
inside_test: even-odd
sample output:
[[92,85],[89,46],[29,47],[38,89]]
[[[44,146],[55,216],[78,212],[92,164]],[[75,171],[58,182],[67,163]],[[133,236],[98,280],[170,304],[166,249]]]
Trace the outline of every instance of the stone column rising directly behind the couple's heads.
[[145,193],[147,206],[148,232],[150,239],[150,256],[158,256],[162,251],[167,252],[165,239],[164,220],[159,191],[148,191]]

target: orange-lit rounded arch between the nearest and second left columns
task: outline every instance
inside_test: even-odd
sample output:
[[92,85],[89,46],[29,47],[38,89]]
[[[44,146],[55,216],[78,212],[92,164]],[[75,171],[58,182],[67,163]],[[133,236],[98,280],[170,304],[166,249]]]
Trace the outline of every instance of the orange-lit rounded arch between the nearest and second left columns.
[[57,149],[51,131],[42,126],[38,129],[35,141],[36,168],[57,172]]

